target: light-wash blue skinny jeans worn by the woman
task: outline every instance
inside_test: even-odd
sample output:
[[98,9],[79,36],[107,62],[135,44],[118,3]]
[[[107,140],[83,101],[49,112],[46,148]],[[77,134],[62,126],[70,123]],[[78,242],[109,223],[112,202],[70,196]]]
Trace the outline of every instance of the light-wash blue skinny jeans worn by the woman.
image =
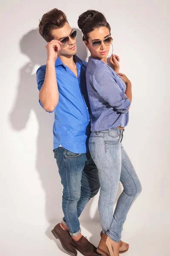
[[[116,242],[121,239],[127,212],[142,191],[139,178],[121,144],[124,131],[125,129],[111,128],[92,132],[89,139],[91,156],[99,172],[99,215],[102,231]],[[113,214],[119,180],[124,189]]]

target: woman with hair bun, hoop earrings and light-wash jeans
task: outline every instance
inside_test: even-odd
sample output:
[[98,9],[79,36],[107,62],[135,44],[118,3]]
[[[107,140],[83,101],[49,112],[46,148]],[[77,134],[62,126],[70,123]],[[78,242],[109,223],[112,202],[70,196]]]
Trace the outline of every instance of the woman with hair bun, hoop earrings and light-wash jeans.
[[[111,28],[105,16],[88,10],[79,16],[78,26],[85,46],[90,50],[86,71],[88,97],[91,105],[91,136],[89,149],[99,171],[99,214],[102,226],[97,248],[104,256],[119,256],[128,250],[121,233],[127,212],[142,187],[121,142],[129,119],[132,101],[131,83],[119,73],[119,57],[107,55],[112,44]],[[119,180],[124,189],[116,204]]]

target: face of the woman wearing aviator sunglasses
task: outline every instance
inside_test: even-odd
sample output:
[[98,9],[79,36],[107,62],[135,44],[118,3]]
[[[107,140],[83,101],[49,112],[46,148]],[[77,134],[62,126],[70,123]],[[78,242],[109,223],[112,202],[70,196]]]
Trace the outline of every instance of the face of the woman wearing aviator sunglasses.
[[[92,57],[99,58],[106,62],[107,55],[111,45],[105,45],[104,42],[102,41],[102,44],[97,49],[94,49],[92,47],[92,43],[95,41],[103,40],[110,37],[111,35],[109,33],[109,29],[106,27],[100,27],[99,29],[94,29],[94,31],[88,33],[89,39],[88,39],[88,42],[85,41],[85,45],[90,50]],[[95,48],[96,47],[97,45],[95,46]]]

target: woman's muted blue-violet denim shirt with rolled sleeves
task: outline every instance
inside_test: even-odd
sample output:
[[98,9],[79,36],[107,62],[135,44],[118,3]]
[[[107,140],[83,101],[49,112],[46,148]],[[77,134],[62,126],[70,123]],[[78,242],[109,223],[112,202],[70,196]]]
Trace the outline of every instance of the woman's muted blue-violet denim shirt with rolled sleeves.
[[130,100],[121,77],[104,61],[90,56],[86,84],[91,106],[91,131],[125,127],[129,120]]

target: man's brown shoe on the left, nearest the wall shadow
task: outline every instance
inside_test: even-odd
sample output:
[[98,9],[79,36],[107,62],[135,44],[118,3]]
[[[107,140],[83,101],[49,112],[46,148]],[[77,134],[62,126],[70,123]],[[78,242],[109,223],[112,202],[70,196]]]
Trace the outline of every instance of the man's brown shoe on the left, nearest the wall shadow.
[[62,247],[71,255],[77,256],[77,250],[71,244],[72,238],[70,233],[66,230],[63,230],[60,224],[57,224],[54,229],[51,231],[55,238],[59,239],[62,244]]

